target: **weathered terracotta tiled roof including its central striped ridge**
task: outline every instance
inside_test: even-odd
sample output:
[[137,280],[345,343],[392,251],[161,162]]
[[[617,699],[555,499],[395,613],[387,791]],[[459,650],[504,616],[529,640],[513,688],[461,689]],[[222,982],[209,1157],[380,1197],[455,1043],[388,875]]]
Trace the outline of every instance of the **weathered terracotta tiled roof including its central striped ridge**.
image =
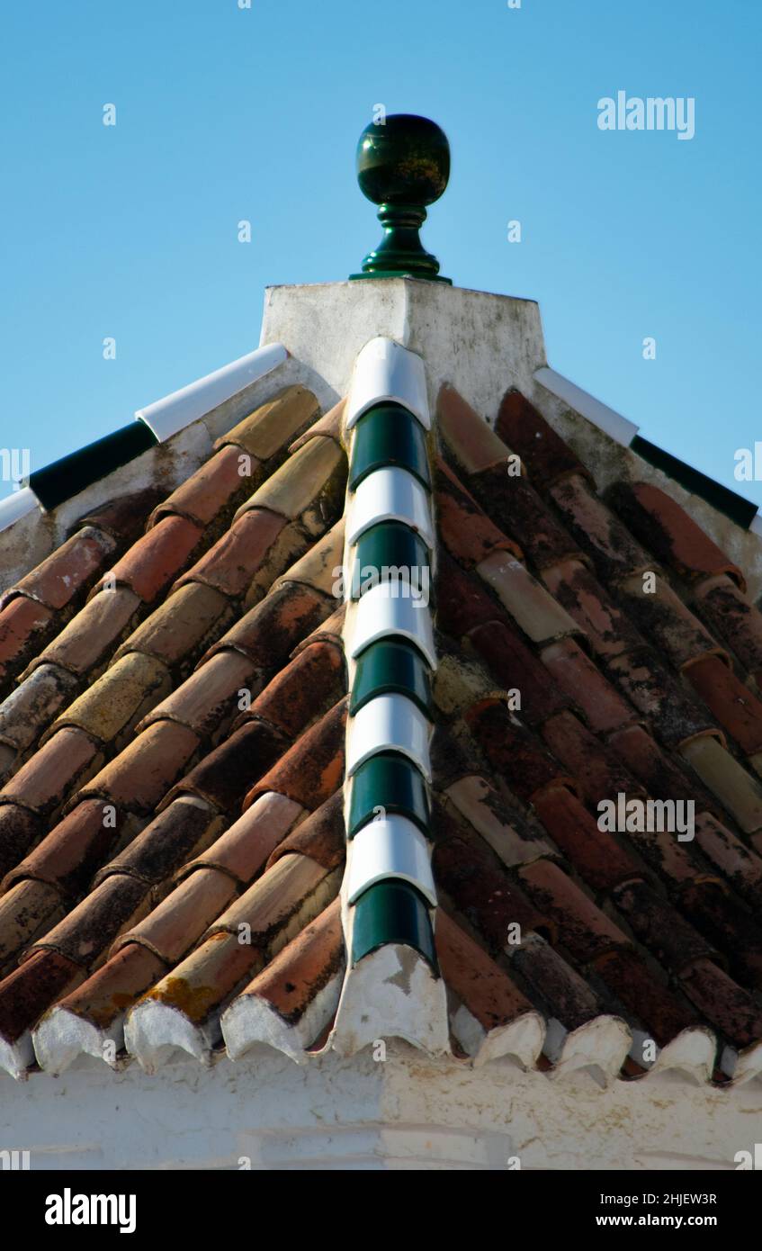
[[[345,403],[274,377],[3,592],[0,1063],[402,1036],[756,1076],[743,572],[517,390],[494,429],[448,387],[429,413],[425,362],[364,350]],[[633,799],[693,801],[694,838],[602,828]]]

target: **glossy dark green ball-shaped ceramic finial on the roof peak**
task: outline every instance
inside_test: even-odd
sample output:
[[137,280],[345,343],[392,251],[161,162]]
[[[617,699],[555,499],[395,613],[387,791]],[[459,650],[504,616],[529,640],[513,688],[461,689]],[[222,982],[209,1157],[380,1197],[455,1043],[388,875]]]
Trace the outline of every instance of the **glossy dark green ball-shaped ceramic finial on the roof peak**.
[[427,205],[444,194],[449,180],[444,131],[409,113],[372,121],[357,146],[357,180],[363,195],[378,204],[384,238],[365,256],[363,273],[350,278],[428,278],[452,285],[418,235]]

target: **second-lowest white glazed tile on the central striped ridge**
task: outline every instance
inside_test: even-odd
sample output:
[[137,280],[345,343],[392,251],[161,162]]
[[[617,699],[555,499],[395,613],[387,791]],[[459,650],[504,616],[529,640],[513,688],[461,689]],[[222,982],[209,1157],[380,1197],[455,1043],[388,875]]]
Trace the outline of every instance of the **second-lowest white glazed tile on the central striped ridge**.
[[402,752],[432,781],[429,737],[432,727],[407,696],[383,694],[369,699],[347,727],[347,779],[378,752]]

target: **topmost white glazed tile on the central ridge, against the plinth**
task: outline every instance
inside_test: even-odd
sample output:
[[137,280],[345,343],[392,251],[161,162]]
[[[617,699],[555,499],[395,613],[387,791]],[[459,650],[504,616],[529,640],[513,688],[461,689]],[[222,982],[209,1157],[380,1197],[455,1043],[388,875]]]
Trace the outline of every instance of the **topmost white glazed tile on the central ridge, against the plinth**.
[[424,429],[430,429],[423,360],[394,339],[379,337],[370,339],[355,360],[347,399],[347,429],[374,404],[385,400],[403,404]]

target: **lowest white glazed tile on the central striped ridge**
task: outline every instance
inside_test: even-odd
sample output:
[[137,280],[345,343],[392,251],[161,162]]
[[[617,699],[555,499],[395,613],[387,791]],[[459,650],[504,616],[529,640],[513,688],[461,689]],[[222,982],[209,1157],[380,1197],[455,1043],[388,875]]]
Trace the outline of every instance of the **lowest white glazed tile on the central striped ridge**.
[[347,877],[348,902],[374,882],[399,878],[418,887],[432,908],[437,892],[432,876],[430,846],[407,817],[378,817],[354,836]]

